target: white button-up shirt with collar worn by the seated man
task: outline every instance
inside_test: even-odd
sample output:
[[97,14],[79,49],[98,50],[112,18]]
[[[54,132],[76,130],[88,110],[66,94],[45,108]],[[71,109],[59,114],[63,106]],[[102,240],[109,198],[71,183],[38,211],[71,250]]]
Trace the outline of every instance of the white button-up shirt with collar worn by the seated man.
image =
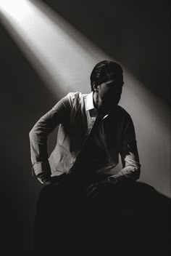
[[[72,172],[76,159],[83,150],[85,152],[84,146],[86,146],[97,116],[98,111],[93,105],[93,92],[90,94],[70,92],[59,100],[54,108],[42,116],[30,131],[34,174],[49,172],[51,176],[56,176]],[[57,145],[49,157],[47,138],[58,125]],[[117,179],[128,177],[137,180],[141,165],[130,115],[117,105],[113,111],[101,118],[100,126],[101,136],[96,140],[103,143],[107,161],[101,166],[97,163],[96,172],[112,175],[111,170],[118,164],[120,154],[122,169],[113,177]]]

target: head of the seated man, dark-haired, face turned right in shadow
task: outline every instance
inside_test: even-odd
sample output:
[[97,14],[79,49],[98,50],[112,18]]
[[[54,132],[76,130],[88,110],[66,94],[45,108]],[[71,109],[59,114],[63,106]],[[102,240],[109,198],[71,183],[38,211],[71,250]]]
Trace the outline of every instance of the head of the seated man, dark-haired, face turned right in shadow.
[[103,60],[91,73],[93,103],[98,111],[107,112],[120,102],[123,71],[119,64]]

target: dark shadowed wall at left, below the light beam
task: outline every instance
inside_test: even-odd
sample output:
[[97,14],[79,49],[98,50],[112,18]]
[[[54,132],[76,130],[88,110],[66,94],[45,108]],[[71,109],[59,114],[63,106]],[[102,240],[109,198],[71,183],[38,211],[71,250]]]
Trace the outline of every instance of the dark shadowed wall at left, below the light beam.
[[1,254],[28,256],[36,198],[28,133],[57,101],[0,26]]

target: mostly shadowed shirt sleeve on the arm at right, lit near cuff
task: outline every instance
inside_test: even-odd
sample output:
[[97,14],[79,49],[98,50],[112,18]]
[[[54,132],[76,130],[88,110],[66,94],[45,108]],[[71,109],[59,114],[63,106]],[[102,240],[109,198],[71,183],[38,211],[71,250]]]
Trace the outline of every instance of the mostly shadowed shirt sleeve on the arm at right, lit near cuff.
[[120,156],[122,159],[122,169],[113,177],[117,180],[124,178],[138,180],[141,173],[141,164],[139,162],[135,129],[130,116],[128,116],[125,129],[123,129]]

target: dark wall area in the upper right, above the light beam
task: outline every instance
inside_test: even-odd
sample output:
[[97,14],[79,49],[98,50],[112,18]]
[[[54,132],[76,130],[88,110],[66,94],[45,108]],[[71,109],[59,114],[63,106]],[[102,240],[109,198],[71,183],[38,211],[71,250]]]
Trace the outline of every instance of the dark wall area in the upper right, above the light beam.
[[169,1],[43,2],[168,102]]

